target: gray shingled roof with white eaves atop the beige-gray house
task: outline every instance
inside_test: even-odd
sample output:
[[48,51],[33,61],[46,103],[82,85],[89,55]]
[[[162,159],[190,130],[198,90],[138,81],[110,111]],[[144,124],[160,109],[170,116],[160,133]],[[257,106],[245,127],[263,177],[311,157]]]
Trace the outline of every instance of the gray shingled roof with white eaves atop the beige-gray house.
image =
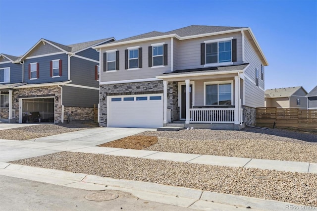
[[163,38],[176,38],[178,40],[186,40],[186,39],[207,37],[207,36],[225,34],[225,33],[231,33],[231,32],[242,33],[243,31],[248,32],[247,35],[250,37],[252,44],[254,44],[256,52],[259,53],[259,56],[261,60],[263,61],[263,64],[265,66],[268,65],[268,62],[264,56],[264,53],[262,52],[260,45],[258,44],[258,41],[255,39],[255,36],[253,35],[253,32],[251,31],[251,29],[247,27],[191,25],[191,26],[175,29],[168,32],[153,31],[153,32],[125,38],[122,40],[118,40],[109,44],[99,45],[99,46],[93,47],[93,49],[99,50],[101,48],[106,48],[110,46],[145,42],[145,41],[157,40],[157,39],[163,39]]

